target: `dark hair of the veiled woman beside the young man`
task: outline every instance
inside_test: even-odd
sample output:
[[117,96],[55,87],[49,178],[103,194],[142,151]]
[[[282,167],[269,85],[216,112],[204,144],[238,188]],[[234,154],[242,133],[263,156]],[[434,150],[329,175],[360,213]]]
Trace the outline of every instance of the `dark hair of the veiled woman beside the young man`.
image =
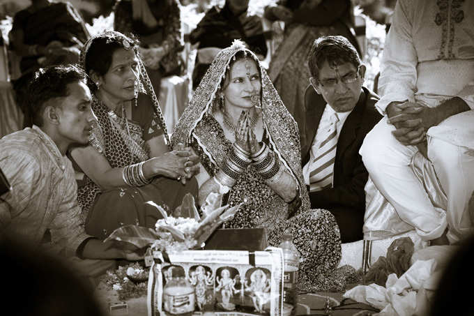
[[[85,70],[87,75],[89,75],[88,86],[92,92],[97,90],[93,80],[91,79],[91,70],[96,74],[103,76],[109,71],[110,66],[112,65],[112,56],[116,50],[121,48],[125,49],[123,43],[128,43],[132,50],[135,51],[137,57],[139,55],[139,40],[133,36],[133,34],[123,34],[119,32],[114,32],[115,36],[98,36],[94,38],[89,46],[89,49],[86,52],[86,62]],[[128,48],[130,50],[130,47]]]

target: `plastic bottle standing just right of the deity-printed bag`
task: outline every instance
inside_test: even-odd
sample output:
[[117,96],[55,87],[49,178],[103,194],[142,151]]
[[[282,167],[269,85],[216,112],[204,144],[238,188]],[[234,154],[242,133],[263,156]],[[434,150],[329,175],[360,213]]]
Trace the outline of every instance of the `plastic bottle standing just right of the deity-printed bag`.
[[284,233],[280,248],[283,250],[284,289],[282,315],[295,315],[298,304],[298,270],[300,269],[300,253],[293,243],[293,235]]

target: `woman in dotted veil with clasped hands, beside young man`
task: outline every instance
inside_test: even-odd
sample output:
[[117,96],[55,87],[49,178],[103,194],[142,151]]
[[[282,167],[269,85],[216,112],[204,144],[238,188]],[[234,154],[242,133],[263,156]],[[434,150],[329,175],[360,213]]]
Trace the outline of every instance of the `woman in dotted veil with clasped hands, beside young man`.
[[[70,154],[84,172],[78,199],[86,232],[105,239],[123,225],[155,227],[186,193],[197,194],[198,157],[179,145],[169,151],[168,132],[139,59],[138,41],[105,31],[84,45],[79,62],[89,75],[97,125],[89,146]],[[188,181],[187,181],[188,180]]]

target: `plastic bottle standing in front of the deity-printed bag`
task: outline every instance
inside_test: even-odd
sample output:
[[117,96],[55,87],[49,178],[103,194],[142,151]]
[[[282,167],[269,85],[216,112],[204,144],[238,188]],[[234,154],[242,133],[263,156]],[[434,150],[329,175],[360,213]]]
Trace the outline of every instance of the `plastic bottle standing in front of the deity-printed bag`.
[[185,278],[183,269],[172,269],[171,278],[163,287],[165,315],[190,316],[194,312],[194,287]]

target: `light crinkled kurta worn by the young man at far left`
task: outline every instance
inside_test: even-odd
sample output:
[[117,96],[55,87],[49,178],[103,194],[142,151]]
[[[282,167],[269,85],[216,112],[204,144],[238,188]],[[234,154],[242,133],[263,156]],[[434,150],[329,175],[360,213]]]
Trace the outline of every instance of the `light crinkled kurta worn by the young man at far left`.
[[82,226],[70,160],[33,126],[0,140],[0,168],[13,187],[0,199],[1,235],[39,246],[50,230],[52,246],[74,256],[90,236]]

